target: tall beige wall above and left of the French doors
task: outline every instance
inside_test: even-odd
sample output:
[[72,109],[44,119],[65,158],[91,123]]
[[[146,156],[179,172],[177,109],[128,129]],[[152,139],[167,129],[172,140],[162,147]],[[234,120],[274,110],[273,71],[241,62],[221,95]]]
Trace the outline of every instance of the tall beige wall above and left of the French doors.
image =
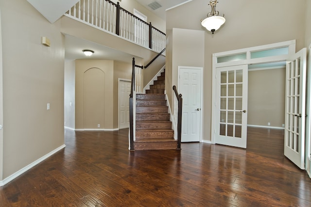
[[[292,0],[222,0],[217,4],[217,10],[220,15],[225,14],[226,22],[215,34],[201,26],[200,19],[204,19],[210,11],[206,0],[193,0],[167,11],[167,34],[173,28],[205,32],[203,140],[209,141],[211,136],[212,54],[292,39],[296,40],[297,51],[305,47],[306,0],[295,2],[293,4]],[[188,14],[189,11],[196,12],[181,15]],[[273,16],[263,15],[263,12]],[[172,40],[168,39],[168,44],[170,41]],[[169,56],[167,51],[167,57]]]

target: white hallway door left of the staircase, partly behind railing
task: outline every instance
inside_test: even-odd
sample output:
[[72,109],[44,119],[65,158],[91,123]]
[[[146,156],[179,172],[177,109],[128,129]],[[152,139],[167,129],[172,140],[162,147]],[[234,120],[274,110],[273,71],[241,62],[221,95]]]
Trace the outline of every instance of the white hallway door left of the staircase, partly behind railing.
[[130,126],[129,98],[131,93],[131,82],[119,81],[119,129]]

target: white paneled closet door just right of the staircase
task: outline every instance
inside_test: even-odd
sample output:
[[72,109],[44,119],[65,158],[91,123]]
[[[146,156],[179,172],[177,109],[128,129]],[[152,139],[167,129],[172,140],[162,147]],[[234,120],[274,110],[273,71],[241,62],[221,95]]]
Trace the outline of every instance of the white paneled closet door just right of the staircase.
[[202,68],[178,67],[183,98],[181,142],[199,142],[201,134]]

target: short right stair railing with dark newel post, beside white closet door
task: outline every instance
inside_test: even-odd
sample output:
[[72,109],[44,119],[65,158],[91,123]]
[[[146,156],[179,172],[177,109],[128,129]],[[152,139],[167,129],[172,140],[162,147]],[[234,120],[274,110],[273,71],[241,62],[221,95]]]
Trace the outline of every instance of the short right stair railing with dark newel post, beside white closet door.
[[174,121],[177,123],[177,149],[181,149],[181,118],[183,109],[183,98],[181,94],[178,94],[176,86],[173,86],[175,93],[174,98]]

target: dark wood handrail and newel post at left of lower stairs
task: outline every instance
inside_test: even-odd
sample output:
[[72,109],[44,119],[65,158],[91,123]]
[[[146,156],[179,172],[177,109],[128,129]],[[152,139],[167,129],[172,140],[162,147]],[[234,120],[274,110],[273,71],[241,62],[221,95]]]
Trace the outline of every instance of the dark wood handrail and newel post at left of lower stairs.
[[133,104],[133,93],[135,90],[135,67],[143,68],[141,65],[135,64],[135,58],[132,61],[132,82],[131,82],[131,93],[129,99],[130,107],[130,151],[134,151],[134,104]]

